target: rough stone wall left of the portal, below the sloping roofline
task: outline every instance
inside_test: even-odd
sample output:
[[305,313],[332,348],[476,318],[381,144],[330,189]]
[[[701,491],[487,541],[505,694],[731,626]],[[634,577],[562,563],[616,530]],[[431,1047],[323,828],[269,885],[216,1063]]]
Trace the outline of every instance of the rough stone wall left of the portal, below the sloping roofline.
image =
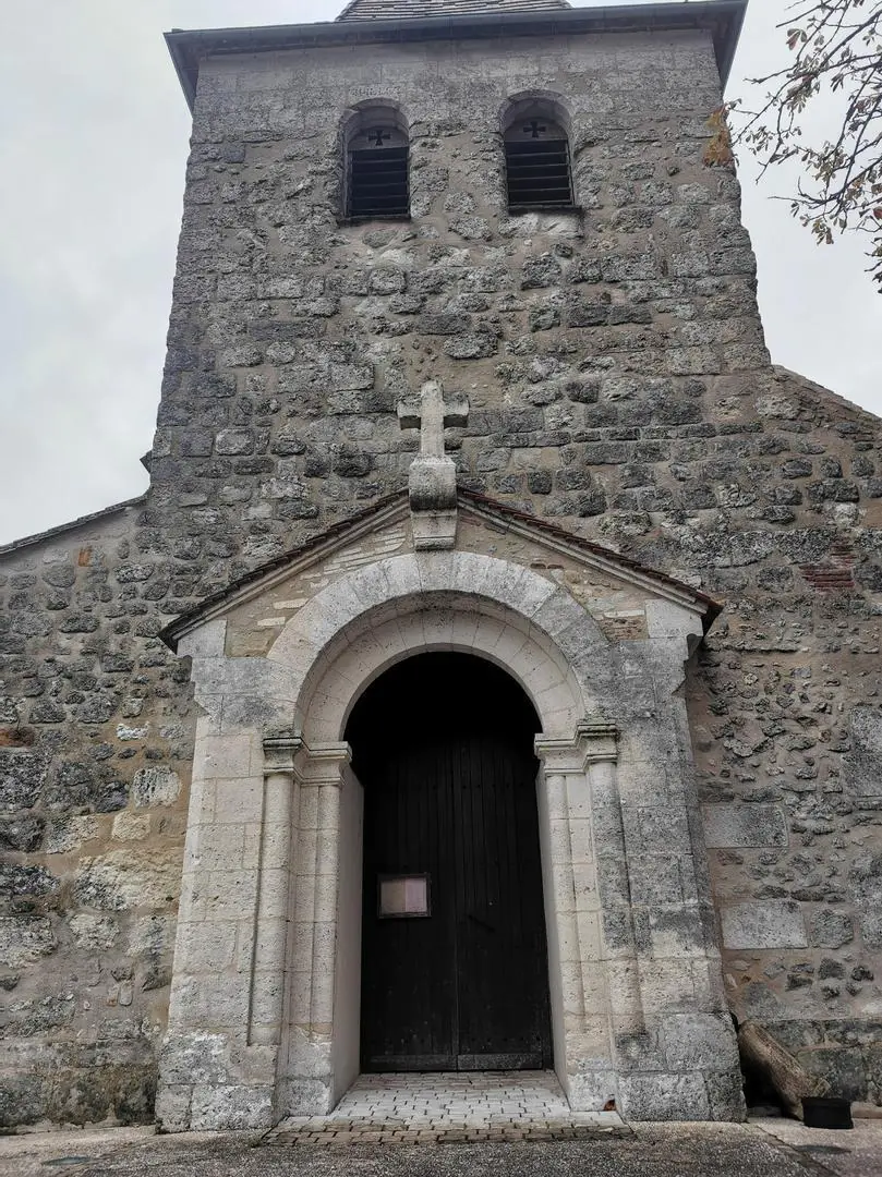
[[0,553],[0,1129],[153,1118],[192,730],[140,511]]

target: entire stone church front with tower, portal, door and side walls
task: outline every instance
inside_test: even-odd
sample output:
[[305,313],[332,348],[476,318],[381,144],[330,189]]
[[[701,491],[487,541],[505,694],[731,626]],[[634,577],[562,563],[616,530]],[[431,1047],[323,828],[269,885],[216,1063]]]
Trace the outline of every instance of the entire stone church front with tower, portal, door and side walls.
[[151,487],[0,552],[6,1125],[880,1102],[882,427],[764,346],[744,7],[168,35]]

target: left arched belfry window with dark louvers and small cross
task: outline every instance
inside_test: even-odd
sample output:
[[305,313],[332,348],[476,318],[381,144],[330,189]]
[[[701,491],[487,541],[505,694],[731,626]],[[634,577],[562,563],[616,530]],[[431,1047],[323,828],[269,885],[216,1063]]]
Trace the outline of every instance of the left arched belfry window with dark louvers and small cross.
[[407,137],[384,122],[364,122],[349,141],[347,215],[406,217]]

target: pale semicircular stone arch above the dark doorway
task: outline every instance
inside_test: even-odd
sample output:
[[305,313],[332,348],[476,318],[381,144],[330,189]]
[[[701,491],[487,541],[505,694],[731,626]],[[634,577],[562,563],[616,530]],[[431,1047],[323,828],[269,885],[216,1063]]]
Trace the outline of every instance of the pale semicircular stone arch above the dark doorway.
[[340,577],[287,623],[268,658],[293,671],[306,742],[333,742],[370,683],[427,650],[495,661],[545,732],[571,733],[608,697],[610,647],[590,614],[530,568],[469,552],[390,557]]

